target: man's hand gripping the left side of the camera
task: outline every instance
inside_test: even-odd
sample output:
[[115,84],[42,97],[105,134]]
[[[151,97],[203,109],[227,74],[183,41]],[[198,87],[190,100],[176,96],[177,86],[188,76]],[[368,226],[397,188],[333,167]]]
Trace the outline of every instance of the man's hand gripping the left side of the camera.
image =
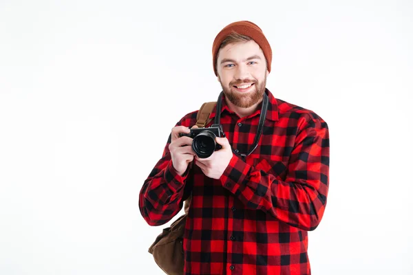
[[[192,128],[197,127],[193,126]],[[171,159],[173,168],[179,175],[184,175],[190,162],[193,161],[193,157],[196,155],[192,150],[192,138],[180,137],[180,133],[189,133],[188,127],[176,126],[171,131],[171,144],[169,144],[169,151],[171,152]]]

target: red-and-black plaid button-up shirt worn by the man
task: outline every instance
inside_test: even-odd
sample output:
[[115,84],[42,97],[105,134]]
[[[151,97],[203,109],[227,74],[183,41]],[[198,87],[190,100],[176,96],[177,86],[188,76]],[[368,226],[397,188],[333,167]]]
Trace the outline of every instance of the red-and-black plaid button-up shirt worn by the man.
[[[195,164],[178,175],[169,136],[142,186],[140,212],[149,225],[170,221],[192,192],[184,274],[311,274],[307,232],[317,228],[326,207],[328,126],[313,111],[266,94],[264,131],[246,159],[238,153],[253,144],[261,108],[239,118],[222,99],[221,124],[235,153],[220,179]],[[177,125],[193,126],[197,113]]]

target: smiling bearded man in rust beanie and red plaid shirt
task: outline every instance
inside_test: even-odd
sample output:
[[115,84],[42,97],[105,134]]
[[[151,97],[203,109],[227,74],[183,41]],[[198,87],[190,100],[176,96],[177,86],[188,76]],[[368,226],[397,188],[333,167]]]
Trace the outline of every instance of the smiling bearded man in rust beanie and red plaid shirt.
[[196,122],[198,111],[189,113],[142,186],[140,212],[149,225],[170,221],[192,195],[184,274],[310,274],[307,232],[319,225],[328,194],[328,126],[266,89],[271,58],[257,25],[227,25],[213,43],[223,94],[210,116],[220,115],[222,148],[208,158],[195,154],[191,137],[180,137]]

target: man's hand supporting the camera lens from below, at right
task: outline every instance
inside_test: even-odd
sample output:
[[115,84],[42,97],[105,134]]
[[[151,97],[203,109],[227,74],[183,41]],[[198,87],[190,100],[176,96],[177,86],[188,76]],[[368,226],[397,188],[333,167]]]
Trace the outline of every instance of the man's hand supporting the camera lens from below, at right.
[[226,137],[216,137],[215,141],[222,146],[220,150],[215,151],[211,157],[202,159],[195,155],[195,164],[199,166],[207,177],[212,179],[220,179],[224,170],[228,166],[233,152],[231,145]]

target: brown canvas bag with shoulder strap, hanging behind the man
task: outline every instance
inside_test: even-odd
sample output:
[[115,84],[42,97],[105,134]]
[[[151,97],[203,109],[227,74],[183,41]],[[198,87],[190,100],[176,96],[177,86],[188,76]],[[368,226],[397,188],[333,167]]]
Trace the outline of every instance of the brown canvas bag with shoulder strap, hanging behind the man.
[[[196,124],[202,128],[211,122],[211,112],[215,108],[217,102],[205,102],[202,104],[198,114],[196,115]],[[148,252],[152,254],[156,264],[163,272],[168,275],[183,275],[184,274],[184,232],[185,223],[189,206],[191,204],[191,195],[184,201],[184,214],[176,219],[169,228],[164,228],[155,241],[149,247]]]

